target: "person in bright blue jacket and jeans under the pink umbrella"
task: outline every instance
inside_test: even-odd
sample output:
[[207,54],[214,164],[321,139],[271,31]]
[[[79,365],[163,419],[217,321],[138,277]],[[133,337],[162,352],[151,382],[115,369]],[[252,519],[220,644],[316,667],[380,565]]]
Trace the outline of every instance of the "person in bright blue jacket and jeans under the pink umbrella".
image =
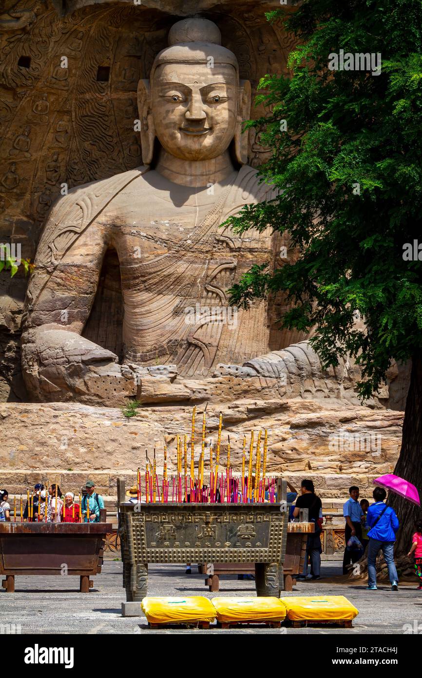
[[388,567],[388,576],[392,584],[392,591],[398,591],[398,576],[394,564],[394,542],[399,527],[398,517],[391,506],[384,504],[387,492],[382,487],[375,487],[373,491],[375,504],[371,504],[366,515],[368,530],[368,589],[377,591],[377,571],[375,561],[381,549]]

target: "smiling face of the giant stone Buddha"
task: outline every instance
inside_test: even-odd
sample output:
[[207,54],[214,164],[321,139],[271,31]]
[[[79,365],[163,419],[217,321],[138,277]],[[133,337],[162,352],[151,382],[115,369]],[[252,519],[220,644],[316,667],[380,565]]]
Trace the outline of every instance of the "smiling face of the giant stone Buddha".
[[184,160],[209,160],[236,128],[238,83],[229,64],[164,64],[152,83],[152,116],[163,148]]

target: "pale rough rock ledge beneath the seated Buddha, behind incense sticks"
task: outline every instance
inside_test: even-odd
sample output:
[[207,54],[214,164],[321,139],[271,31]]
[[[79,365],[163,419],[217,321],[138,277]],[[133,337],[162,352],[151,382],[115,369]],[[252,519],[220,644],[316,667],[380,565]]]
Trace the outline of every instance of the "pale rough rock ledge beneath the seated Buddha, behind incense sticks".
[[[361,487],[371,498],[373,478],[389,473],[398,457],[402,412],[370,410],[334,400],[251,399],[207,407],[207,441],[216,443],[218,416],[223,414],[220,463],[226,463],[230,435],[230,460],[234,472],[242,467],[243,435],[268,428],[267,473],[283,473],[295,487],[301,478],[314,480],[326,500],[347,498],[350,485]],[[199,410],[198,410],[199,411]],[[0,475],[9,492],[58,474],[60,487],[79,491],[87,477],[97,492],[116,494],[116,478],[135,481],[136,468],[145,464],[145,448],[156,446],[159,471],[163,466],[163,441],[168,447],[169,474],[176,462],[177,434],[188,435],[192,409],[142,407],[125,418],[119,409],[68,403],[0,405],[4,437]],[[201,452],[202,418],[196,422],[196,464]],[[31,432],[30,439],[28,431]],[[207,461],[208,457],[206,456]],[[207,468],[207,464],[205,466]],[[345,499],[344,499],[345,500]]]

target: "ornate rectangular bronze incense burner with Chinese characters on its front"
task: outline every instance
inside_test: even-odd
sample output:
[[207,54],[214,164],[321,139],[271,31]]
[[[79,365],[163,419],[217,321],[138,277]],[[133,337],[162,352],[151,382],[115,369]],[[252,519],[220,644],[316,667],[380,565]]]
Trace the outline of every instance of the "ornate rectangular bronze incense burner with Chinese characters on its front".
[[[283,483],[284,484],[284,483]],[[118,481],[123,586],[127,601],[148,593],[149,563],[255,563],[257,595],[278,597],[287,504],[138,503]]]

